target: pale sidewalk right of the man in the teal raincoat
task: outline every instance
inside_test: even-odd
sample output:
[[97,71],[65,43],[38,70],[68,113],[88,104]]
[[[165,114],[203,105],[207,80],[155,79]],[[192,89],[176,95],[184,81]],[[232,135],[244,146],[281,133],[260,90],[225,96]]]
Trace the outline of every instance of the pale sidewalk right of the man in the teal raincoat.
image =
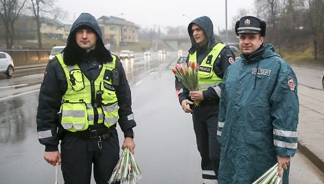
[[303,85],[298,90],[298,149],[324,172],[324,91]]

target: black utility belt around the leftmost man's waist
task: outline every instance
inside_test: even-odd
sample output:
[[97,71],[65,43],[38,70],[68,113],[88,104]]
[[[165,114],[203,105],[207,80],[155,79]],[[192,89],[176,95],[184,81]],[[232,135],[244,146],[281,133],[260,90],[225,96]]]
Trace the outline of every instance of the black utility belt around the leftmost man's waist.
[[[111,128],[116,128],[116,124],[111,126],[110,128],[106,127],[104,124],[90,125],[88,129],[78,132],[71,132],[69,130],[59,130],[59,135],[61,132],[61,138],[63,137],[81,137],[82,139],[95,139],[100,137],[100,139],[108,139],[111,133]],[[60,129],[60,128],[59,128]]]

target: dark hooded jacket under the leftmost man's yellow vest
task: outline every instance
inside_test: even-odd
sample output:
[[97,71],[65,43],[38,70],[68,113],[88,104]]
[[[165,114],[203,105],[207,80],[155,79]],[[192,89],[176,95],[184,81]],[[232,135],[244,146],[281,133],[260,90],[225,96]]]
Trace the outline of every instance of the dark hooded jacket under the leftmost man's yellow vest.
[[[87,53],[76,43],[76,32],[80,29],[90,29],[95,32],[97,41],[95,49]],[[78,64],[84,76],[89,80],[95,80],[99,76],[104,62],[112,62],[110,51],[104,47],[102,33],[95,17],[91,14],[82,13],[73,23],[70,34],[67,38],[67,46],[63,50],[63,60],[66,65]],[[115,93],[118,99],[118,124],[124,133],[132,133],[132,128],[136,126],[132,118],[132,99],[130,87],[126,80],[122,62],[116,59],[116,69],[118,70],[119,85],[115,86]],[[38,140],[45,145],[45,151],[58,150],[58,133],[60,118],[57,113],[60,111],[62,95],[67,91],[67,78],[58,58],[49,60],[45,69],[43,82],[40,86],[37,111],[37,131]]]

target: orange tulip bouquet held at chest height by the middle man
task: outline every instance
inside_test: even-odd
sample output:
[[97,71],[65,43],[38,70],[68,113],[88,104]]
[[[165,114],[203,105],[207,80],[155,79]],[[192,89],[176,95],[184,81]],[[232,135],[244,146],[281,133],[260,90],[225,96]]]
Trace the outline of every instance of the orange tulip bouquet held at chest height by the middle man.
[[[176,78],[178,78],[189,91],[198,91],[198,69],[198,64],[192,61],[176,65],[175,68],[171,67]],[[199,101],[194,101],[194,104],[198,106]]]

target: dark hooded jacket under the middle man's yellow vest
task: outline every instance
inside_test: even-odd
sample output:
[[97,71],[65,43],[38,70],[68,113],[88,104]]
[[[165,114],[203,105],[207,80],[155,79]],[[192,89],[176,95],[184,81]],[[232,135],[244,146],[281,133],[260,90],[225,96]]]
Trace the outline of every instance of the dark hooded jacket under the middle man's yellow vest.
[[[198,45],[196,43],[192,32],[193,24],[198,25],[204,30],[208,38],[207,44]],[[194,21],[192,21],[191,23],[189,23],[187,30],[190,37],[190,41],[192,43],[192,47],[190,47],[188,52],[189,54],[194,54],[194,52],[197,51],[197,63],[200,65],[200,63],[207,56],[207,54],[209,54],[211,49],[213,49],[213,47],[215,47],[215,45],[217,44],[215,36],[213,34],[213,23],[211,22],[211,19],[209,19],[208,16],[200,16],[197,19],[194,19]],[[234,60],[235,55],[233,54],[231,49],[229,49],[229,47],[227,46],[224,47],[222,51],[220,51],[219,57],[213,64],[213,71],[219,78],[223,78],[227,67],[229,67],[229,65],[231,65],[231,63],[233,63]],[[187,62],[188,61],[189,55],[187,56]],[[182,83],[179,84],[179,89],[179,102],[181,103],[181,101],[188,99],[189,91],[183,86]],[[218,93],[216,93],[216,91],[213,88],[209,88],[206,91],[203,91],[203,96],[204,100],[216,100],[217,102],[219,100]]]

